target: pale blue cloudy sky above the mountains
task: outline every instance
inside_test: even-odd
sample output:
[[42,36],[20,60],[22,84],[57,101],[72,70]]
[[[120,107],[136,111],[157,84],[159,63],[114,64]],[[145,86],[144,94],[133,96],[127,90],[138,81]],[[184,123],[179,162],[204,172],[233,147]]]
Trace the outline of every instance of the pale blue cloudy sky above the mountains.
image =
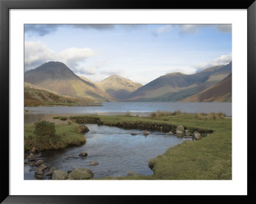
[[232,60],[231,24],[25,24],[24,72],[61,61],[93,82],[148,82]]

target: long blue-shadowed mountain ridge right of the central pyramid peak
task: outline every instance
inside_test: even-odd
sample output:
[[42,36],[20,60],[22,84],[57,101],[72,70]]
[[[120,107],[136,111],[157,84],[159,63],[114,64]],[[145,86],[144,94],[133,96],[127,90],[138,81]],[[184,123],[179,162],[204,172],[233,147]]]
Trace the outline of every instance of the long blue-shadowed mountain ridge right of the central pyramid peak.
[[158,77],[141,86],[126,99],[127,101],[176,102],[195,95],[227,77],[232,72],[232,62],[207,68],[196,74],[175,72]]

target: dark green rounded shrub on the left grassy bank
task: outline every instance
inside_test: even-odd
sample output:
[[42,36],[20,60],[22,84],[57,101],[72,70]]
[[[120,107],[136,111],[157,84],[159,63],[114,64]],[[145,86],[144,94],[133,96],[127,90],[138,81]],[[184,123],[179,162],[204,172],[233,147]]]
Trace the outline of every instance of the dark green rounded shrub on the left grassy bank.
[[55,135],[55,125],[54,123],[41,120],[35,123],[34,133],[37,136],[54,136]]

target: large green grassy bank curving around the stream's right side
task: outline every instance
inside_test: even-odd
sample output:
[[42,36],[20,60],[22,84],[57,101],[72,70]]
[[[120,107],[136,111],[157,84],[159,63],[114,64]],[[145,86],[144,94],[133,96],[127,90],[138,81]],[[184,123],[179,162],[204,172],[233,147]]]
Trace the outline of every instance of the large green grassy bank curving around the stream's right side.
[[[103,125],[160,124],[183,125],[189,130],[212,130],[212,134],[198,141],[184,141],[166,150],[163,155],[149,161],[152,176],[107,177],[102,179],[162,179],[162,180],[230,180],[232,179],[232,119],[207,118],[200,120],[195,114],[159,116],[156,119],[138,116],[93,116]],[[84,116],[70,116],[70,120]],[[91,119],[92,120],[92,119]],[[93,120],[92,120],[93,122]],[[132,127],[132,125],[131,125]]]

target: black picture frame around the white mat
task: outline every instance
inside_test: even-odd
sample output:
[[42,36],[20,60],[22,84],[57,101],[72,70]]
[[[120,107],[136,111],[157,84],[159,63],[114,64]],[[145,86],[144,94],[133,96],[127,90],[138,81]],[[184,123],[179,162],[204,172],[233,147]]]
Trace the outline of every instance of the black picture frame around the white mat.
[[[248,13],[248,195],[247,196],[10,196],[9,194],[9,10],[10,9],[246,9]],[[168,202],[255,202],[255,136],[253,114],[255,114],[256,88],[256,1],[255,0],[182,0],[182,1],[118,1],[118,0],[0,0],[1,45],[0,45],[0,104],[1,104],[1,198],[3,203],[158,203]],[[245,110],[244,110],[245,111]],[[251,137],[250,137],[251,136]]]

